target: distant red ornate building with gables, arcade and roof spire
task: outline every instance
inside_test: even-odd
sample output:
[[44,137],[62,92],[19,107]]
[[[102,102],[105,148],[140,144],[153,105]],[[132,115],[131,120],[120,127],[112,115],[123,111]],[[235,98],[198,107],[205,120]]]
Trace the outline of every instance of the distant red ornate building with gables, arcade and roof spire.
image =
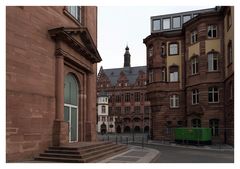
[[123,68],[100,68],[97,92],[108,95],[109,118],[115,119],[117,133],[148,133],[151,117],[146,95],[146,66],[131,67],[130,57],[126,47]]

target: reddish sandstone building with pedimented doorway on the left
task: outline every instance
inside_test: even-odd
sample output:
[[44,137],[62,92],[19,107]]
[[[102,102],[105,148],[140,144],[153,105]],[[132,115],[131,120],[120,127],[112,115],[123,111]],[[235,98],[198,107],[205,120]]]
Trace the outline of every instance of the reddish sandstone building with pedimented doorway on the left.
[[7,161],[96,140],[96,46],[96,7],[6,8]]

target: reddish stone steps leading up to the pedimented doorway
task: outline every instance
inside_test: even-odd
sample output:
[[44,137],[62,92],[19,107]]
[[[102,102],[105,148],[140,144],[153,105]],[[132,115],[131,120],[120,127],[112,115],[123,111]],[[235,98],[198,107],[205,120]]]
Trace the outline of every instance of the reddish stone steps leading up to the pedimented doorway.
[[127,151],[126,145],[111,142],[77,143],[60,147],[49,147],[35,157],[35,161],[59,163],[88,163]]

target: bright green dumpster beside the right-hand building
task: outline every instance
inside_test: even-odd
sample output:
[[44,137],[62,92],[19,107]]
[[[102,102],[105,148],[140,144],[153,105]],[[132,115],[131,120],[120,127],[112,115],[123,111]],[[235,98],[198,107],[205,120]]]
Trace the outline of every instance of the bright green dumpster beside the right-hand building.
[[175,128],[175,141],[186,144],[211,144],[211,128]]

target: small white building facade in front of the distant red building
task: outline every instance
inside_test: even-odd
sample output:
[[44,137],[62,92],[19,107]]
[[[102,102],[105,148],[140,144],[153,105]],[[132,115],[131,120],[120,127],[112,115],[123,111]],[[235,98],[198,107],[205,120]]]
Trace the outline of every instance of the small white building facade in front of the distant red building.
[[100,92],[97,101],[98,133],[115,133],[115,116],[110,116],[108,110],[108,95],[106,92]]

